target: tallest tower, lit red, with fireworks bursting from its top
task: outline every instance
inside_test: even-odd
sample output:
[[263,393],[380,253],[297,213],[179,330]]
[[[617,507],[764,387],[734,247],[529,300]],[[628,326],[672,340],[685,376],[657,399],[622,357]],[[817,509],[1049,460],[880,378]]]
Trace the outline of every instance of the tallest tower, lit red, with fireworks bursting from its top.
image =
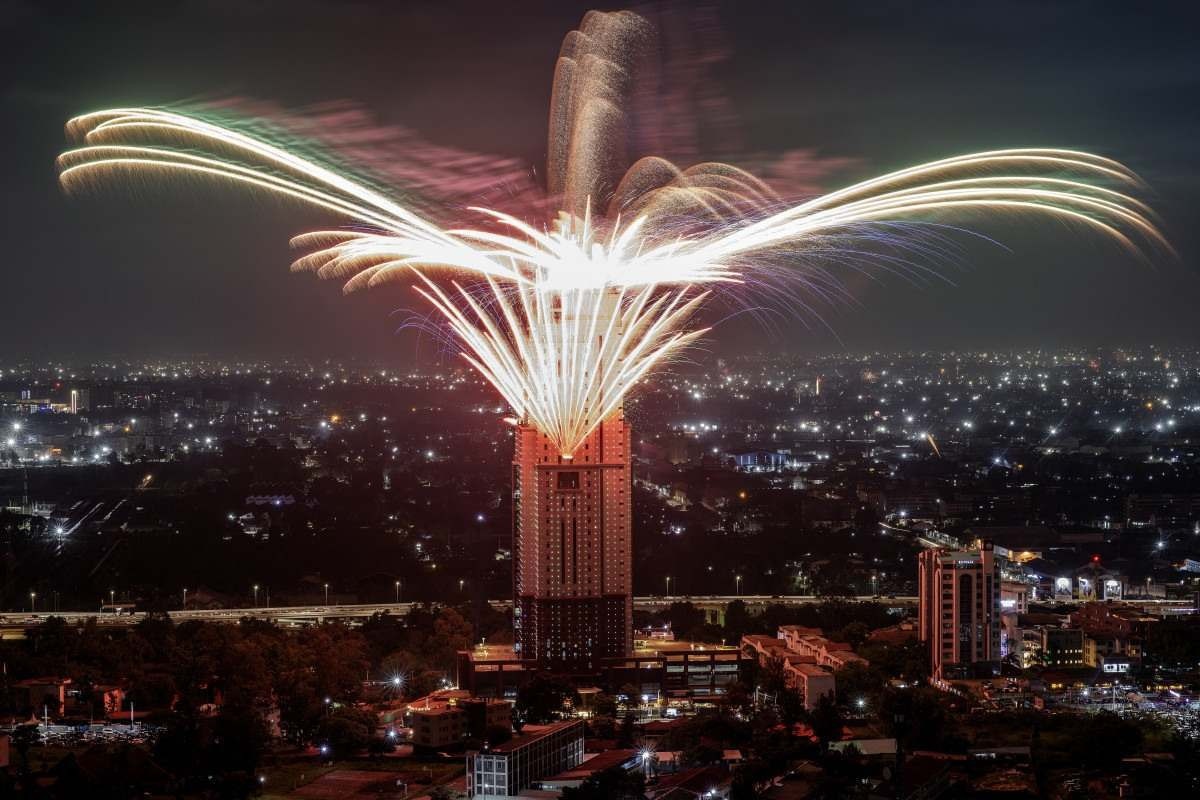
[[632,646],[630,429],[620,410],[564,458],[517,426],[514,627],[523,661],[588,672]]

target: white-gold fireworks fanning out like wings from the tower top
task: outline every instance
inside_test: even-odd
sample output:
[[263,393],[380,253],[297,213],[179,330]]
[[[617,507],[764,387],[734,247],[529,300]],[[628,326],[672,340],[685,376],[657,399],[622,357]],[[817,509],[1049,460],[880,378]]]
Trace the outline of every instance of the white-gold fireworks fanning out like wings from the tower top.
[[79,146],[59,157],[60,180],[72,190],[122,172],[191,175],[350,219],[361,228],[295,237],[308,254],[293,269],[347,290],[415,278],[467,361],[566,457],[638,380],[704,332],[688,324],[709,291],[792,282],[821,293],[835,284],[810,261],[852,259],[847,242],[920,254],[895,223],[1031,212],[1130,249],[1169,249],[1130,194],[1136,175],[1072,150],[959,156],[794,205],[728,164],[680,169],[646,157],[626,168],[623,107],[648,38],[635,14],[593,12],[565,40],[547,167],[547,198],[560,211],[545,227],[488,209],[474,209],[485,225],[448,227],[296,148],[152,108],[71,120]]

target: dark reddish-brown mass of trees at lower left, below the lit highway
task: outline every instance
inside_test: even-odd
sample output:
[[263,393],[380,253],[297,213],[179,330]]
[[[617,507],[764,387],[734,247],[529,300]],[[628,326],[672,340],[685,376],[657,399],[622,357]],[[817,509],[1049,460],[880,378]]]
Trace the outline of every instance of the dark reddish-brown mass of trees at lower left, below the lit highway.
[[122,628],[49,618],[25,640],[0,642],[0,703],[14,722],[31,721],[41,698],[19,682],[70,678],[68,718],[86,722],[103,718],[106,690],[120,687],[121,715],[132,708],[161,726],[154,759],[181,790],[228,778],[228,790],[239,794],[253,784],[247,776],[275,736],[323,745],[331,757],[390,750],[362,702],[410,699],[442,686],[455,654],[474,639],[475,628],[455,608],[377,615],[361,627],[284,628],[252,619],[176,625],[152,615]]

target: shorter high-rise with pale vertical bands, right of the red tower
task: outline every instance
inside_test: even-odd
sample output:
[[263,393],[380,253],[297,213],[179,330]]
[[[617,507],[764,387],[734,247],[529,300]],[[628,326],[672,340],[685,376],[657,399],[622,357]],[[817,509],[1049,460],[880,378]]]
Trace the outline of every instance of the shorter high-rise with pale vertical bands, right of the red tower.
[[935,678],[991,675],[1000,667],[1000,570],[991,542],[918,558],[920,640]]

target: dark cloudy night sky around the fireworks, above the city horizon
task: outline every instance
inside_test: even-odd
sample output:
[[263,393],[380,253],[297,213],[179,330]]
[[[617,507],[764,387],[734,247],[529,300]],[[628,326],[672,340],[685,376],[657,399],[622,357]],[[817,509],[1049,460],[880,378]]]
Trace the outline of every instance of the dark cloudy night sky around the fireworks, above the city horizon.
[[[857,160],[830,181],[1003,146],[1116,157],[1154,188],[1180,263],[1061,227],[989,229],[950,282],[888,279],[836,335],[733,324],[740,349],[1193,344],[1200,333],[1200,49],[1193,4],[728,2],[721,88],[748,151]],[[0,2],[0,359],[332,355],[407,360],[401,285],[343,297],[287,271],[336,224],[234,190],[66,198],[62,122],[116,104],[352,100],[426,138],[540,163],[551,71],[589,6],[554,2]],[[724,154],[715,154],[724,155]],[[421,345],[424,347],[424,345]],[[424,356],[422,356],[424,357]]]

